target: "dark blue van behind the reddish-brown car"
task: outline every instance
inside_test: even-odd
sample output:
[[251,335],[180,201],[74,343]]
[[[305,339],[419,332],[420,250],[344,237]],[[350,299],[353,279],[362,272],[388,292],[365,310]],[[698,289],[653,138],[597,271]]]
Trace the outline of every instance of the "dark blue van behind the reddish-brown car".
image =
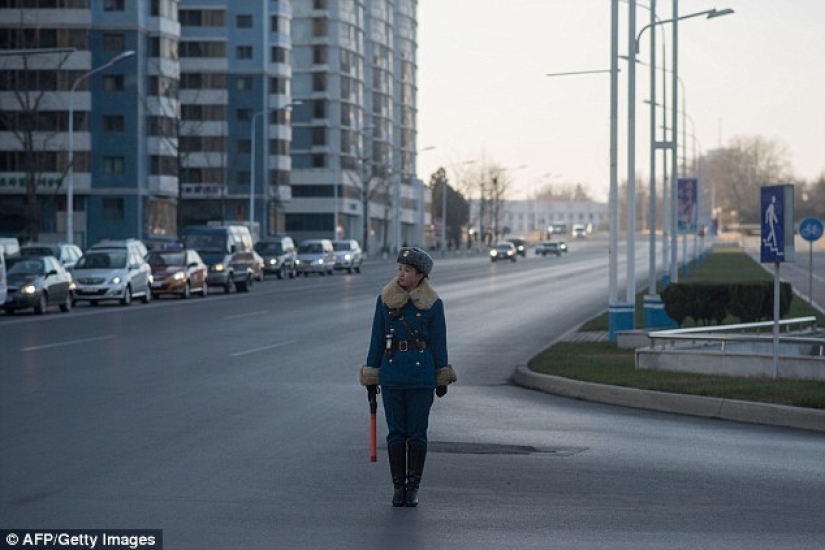
[[244,225],[193,225],[183,230],[186,248],[196,250],[209,267],[206,284],[227,294],[248,292],[255,272],[252,234]]

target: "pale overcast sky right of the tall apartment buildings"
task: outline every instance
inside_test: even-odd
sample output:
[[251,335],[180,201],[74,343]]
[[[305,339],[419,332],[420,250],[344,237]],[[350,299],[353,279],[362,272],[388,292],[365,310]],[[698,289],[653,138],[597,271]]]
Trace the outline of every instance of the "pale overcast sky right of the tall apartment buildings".
[[[672,0],[657,4],[659,19],[670,19]],[[505,167],[526,165],[511,173],[521,198],[546,183],[582,183],[606,200],[609,74],[553,78],[546,74],[609,69],[610,5],[611,0],[421,0],[418,146],[435,149],[419,154],[420,177],[426,182],[439,166],[449,172],[485,156]],[[776,140],[787,149],[799,180],[817,179],[825,172],[825,1],[679,3],[680,15],[712,8],[732,8],[735,13],[679,24],[679,76],[690,117],[688,141],[692,142],[694,127],[702,152],[724,146],[735,136]],[[638,32],[649,22],[649,12],[641,7],[637,11]],[[620,54],[626,55],[628,6],[624,2],[620,13]],[[663,28],[670,68],[670,25],[657,27],[657,64]],[[650,60],[649,39],[647,30],[641,37],[640,61]],[[619,178],[623,180],[627,173],[625,61],[620,69]],[[648,107],[643,103],[650,95],[647,74],[645,66],[637,66],[636,166],[645,179],[649,172]]]

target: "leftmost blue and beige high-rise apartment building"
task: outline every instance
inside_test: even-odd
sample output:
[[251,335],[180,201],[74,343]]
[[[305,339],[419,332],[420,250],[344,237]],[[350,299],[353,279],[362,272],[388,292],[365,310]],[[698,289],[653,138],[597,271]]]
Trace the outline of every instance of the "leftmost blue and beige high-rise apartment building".
[[171,229],[176,179],[151,137],[168,124],[153,106],[177,78],[176,8],[4,2],[0,232],[86,245]]

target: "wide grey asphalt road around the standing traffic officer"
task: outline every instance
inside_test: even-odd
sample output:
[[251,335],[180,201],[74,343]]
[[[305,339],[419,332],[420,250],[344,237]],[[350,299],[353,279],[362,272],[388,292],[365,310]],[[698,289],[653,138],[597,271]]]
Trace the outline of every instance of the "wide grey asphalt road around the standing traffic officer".
[[417,509],[390,505],[383,446],[368,460],[356,382],[390,261],[0,316],[0,527],[163,529],[167,550],[821,548],[821,434],[509,383],[604,309],[607,263],[597,242],[436,257],[459,382],[433,408]]

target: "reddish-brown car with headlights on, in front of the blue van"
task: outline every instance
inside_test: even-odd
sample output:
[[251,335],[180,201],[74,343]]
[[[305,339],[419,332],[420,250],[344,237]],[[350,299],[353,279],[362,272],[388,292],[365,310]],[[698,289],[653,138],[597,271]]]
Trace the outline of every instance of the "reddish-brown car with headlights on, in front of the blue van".
[[152,268],[152,296],[174,294],[189,298],[193,292],[206,296],[206,275],[209,268],[200,254],[187,248],[153,250],[146,255]]

